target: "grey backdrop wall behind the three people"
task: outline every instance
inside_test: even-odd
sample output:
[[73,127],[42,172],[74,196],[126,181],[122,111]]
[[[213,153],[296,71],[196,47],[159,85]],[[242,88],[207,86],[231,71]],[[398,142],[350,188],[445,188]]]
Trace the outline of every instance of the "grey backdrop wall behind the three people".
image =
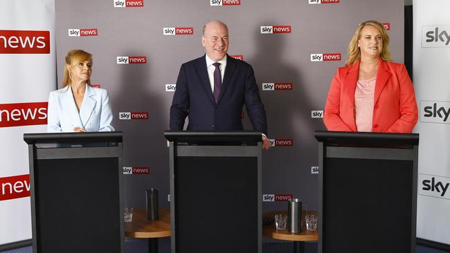
[[[263,156],[263,193],[294,194],[318,208],[317,144],[314,130],[324,130],[311,111],[323,110],[330,81],[343,66],[354,28],[369,19],[390,23],[390,50],[403,62],[403,0],[242,0],[240,6],[210,6],[208,0],[144,1],[143,8],[114,8],[113,1],[56,1],[58,83],[66,52],[82,48],[94,55],[91,81],[106,88],[114,127],[124,132],[125,167],[150,167],[150,174],[125,175],[125,205],[144,209],[145,189],[160,189],[168,206],[168,129],[174,84],[183,62],[204,54],[201,28],[219,19],[230,30],[230,55],[244,55],[253,65],[269,121],[269,138],[294,139],[292,147],[272,147]],[[289,34],[260,34],[260,26],[290,25]],[[192,27],[194,35],[163,36],[165,27]],[[98,36],[69,37],[69,28],[97,28]],[[338,62],[311,62],[312,53],[341,53]],[[116,64],[117,56],[146,56],[147,64]],[[263,82],[292,82],[291,91],[261,91]],[[148,120],[118,120],[118,112],[149,112]],[[246,113],[245,113],[246,115]],[[246,129],[251,129],[244,118]],[[345,183],[345,182],[343,182]],[[357,189],[355,189],[357,190]],[[230,196],[233,198],[233,196]],[[226,203],[226,200],[224,200]],[[264,203],[264,212],[287,203]]]

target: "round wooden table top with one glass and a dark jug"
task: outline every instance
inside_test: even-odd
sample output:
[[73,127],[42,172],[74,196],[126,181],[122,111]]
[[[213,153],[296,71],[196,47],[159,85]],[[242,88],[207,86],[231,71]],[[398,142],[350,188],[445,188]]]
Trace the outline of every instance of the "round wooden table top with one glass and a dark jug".
[[160,238],[170,236],[170,209],[159,209],[159,220],[147,221],[147,211],[134,210],[133,221],[125,223],[125,236],[133,238]]

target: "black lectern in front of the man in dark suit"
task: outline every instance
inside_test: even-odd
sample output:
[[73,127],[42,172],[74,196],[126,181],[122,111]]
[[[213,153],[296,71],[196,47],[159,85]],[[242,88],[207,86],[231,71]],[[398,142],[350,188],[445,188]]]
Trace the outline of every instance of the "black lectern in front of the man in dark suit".
[[261,133],[165,132],[175,252],[262,252]]

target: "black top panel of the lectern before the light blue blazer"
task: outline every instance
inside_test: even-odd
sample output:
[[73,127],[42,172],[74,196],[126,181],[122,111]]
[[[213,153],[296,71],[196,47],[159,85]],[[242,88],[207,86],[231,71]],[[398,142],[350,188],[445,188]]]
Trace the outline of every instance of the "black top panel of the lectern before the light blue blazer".
[[28,144],[68,144],[68,143],[102,143],[122,142],[122,132],[88,132],[88,133],[24,133]]

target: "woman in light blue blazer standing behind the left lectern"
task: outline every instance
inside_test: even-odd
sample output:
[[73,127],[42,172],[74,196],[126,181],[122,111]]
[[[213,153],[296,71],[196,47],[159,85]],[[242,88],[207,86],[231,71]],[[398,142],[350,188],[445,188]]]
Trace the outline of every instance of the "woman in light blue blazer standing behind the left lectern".
[[93,88],[92,55],[70,50],[66,56],[63,88],[48,97],[47,132],[114,131],[108,93]]

